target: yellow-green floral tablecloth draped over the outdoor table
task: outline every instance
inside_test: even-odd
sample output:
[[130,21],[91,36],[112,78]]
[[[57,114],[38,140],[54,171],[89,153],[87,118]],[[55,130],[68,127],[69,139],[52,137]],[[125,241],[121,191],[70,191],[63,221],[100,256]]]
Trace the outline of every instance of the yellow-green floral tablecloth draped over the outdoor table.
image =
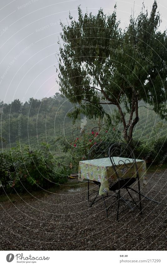
[[[117,170],[118,175],[121,178],[126,177],[136,177],[135,165],[133,165],[133,160],[128,158],[113,157],[116,165],[119,165],[118,162],[122,160],[128,162],[128,167],[119,166]],[[130,162],[129,162],[130,161]],[[146,163],[144,160],[136,159],[138,166],[138,174],[140,180],[143,181],[143,184],[147,183],[146,177]],[[132,166],[133,167],[130,167]],[[130,167],[130,168],[129,168]],[[101,183],[99,194],[102,195],[109,191],[110,185],[112,185],[117,180],[117,175],[114,172],[110,158],[86,160],[79,162],[79,176],[78,180],[83,181],[84,179],[94,180]]]

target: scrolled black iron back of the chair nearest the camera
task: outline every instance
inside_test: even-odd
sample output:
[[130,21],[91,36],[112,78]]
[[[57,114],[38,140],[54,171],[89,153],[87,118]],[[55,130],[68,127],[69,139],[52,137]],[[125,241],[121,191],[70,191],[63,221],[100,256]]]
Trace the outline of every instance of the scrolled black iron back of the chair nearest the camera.
[[[112,163],[112,167],[117,175],[118,180],[123,179],[123,177],[119,176],[118,170],[128,170],[130,168],[135,167],[135,174],[137,179],[139,180],[138,175],[138,167],[136,163],[135,154],[132,148],[126,143],[114,143],[109,148],[109,158]],[[119,157],[120,159],[116,158]],[[125,160],[122,158],[126,158]]]

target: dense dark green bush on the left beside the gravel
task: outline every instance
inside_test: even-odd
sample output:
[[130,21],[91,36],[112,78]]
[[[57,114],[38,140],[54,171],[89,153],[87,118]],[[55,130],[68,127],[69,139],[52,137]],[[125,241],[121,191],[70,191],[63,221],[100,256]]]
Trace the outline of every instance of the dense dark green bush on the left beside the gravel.
[[51,185],[63,184],[67,180],[65,171],[55,167],[55,159],[49,147],[29,150],[29,147],[14,147],[0,154],[0,181],[5,190],[47,189]]

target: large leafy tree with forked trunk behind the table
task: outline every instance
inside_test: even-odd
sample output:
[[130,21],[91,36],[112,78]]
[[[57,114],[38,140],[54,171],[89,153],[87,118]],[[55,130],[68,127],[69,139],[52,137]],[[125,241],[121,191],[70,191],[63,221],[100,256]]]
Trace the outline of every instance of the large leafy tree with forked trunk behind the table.
[[129,142],[139,120],[140,100],[167,119],[167,34],[158,31],[161,20],[157,3],[154,1],[150,16],[143,5],[137,18],[131,15],[124,30],[116,20],[116,6],[108,16],[102,9],[94,16],[83,15],[78,7],[78,13],[78,21],[69,15],[70,25],[61,23],[63,44],[58,42],[60,71],[57,69],[60,92],[76,105],[70,114],[74,121],[81,113],[89,118],[106,114],[111,121],[104,106],[114,105]]

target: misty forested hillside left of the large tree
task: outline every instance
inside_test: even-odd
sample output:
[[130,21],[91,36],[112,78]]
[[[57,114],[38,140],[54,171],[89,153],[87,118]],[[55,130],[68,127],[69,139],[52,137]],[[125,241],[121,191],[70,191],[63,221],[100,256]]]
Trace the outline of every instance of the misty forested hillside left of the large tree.
[[7,143],[15,143],[19,139],[37,138],[41,134],[60,135],[64,125],[68,130],[71,124],[66,116],[71,108],[70,102],[59,93],[42,100],[30,98],[24,103],[19,99],[10,104],[0,102],[2,137]]

